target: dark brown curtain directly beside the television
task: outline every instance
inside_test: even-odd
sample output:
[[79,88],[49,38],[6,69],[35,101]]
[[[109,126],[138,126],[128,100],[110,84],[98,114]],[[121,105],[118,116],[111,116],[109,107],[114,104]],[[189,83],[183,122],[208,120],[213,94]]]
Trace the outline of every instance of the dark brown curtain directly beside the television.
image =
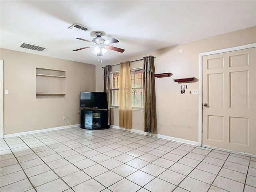
[[104,67],[104,92],[107,92],[107,101],[108,101],[108,125],[111,124],[110,118],[110,68],[111,65],[106,65]]

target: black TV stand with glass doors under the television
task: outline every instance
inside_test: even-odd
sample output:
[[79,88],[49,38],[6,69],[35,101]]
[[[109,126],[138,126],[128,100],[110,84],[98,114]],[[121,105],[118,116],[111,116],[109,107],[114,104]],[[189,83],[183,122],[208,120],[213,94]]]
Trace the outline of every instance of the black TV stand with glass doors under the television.
[[82,129],[108,129],[108,110],[98,108],[81,108]]

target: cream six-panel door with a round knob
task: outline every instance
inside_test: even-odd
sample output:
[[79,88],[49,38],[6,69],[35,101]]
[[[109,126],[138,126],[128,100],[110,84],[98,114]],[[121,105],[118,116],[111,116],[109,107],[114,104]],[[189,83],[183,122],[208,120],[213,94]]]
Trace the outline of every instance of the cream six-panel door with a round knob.
[[256,48],[203,56],[203,145],[256,154]]

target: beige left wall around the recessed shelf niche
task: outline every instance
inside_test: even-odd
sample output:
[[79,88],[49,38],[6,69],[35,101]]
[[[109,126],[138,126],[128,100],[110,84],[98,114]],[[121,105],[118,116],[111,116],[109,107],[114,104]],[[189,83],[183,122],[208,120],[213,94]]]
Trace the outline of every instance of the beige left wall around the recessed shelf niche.
[[[80,91],[95,91],[95,65],[0,49],[4,60],[4,134],[80,124]],[[65,98],[36,98],[36,68],[66,71]]]

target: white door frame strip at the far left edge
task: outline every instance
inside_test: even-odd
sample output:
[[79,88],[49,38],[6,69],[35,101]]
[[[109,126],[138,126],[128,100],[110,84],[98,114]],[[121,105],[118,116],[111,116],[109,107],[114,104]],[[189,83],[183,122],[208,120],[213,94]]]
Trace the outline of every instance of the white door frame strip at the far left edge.
[[0,139],[4,138],[4,61],[0,60]]

